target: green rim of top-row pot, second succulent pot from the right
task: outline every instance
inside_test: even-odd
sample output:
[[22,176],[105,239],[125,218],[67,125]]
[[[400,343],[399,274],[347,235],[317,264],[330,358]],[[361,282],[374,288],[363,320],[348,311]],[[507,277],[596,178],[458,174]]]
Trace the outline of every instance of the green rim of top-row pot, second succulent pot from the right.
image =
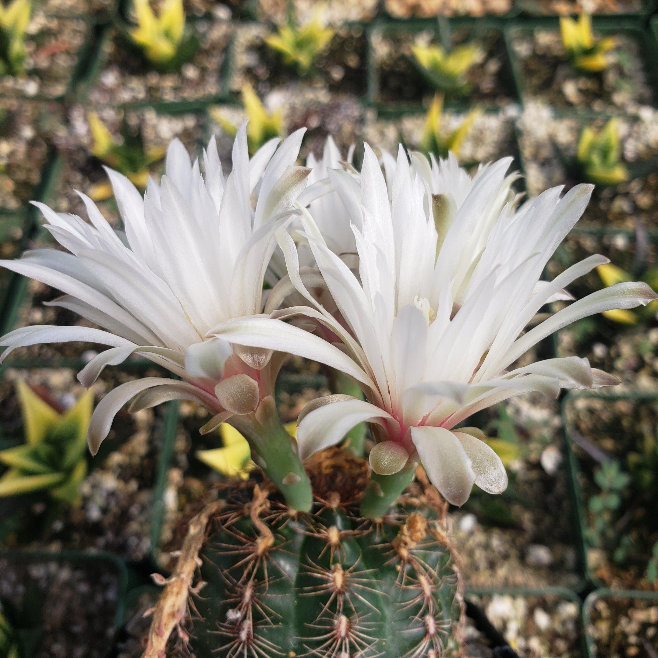
[[[432,30],[434,34],[438,37],[438,41],[442,43],[444,47],[449,47],[452,35],[455,30],[461,28],[471,28],[473,30],[484,30],[486,32],[499,32],[501,37],[503,37],[504,43],[504,33],[502,32],[502,26],[504,22],[499,20],[494,20],[493,18],[438,18],[438,19],[424,19],[424,18],[413,18],[407,20],[388,20],[388,21],[379,21],[373,22],[368,26],[367,36],[368,36],[368,92],[367,92],[367,103],[372,105],[387,116],[400,116],[401,114],[407,113],[417,113],[426,111],[426,108],[422,103],[387,103],[380,101],[380,72],[376,63],[374,62],[374,52],[372,46],[372,35],[375,30],[382,31],[388,34],[402,33],[402,34],[417,34],[418,32],[424,32],[425,30]],[[474,38],[477,37],[477,33],[474,34]],[[507,47],[506,47],[507,49]],[[509,70],[510,80],[513,83],[513,72],[511,70],[511,65],[509,63],[509,56],[506,59],[506,67]],[[432,88],[428,84],[426,87],[428,93],[432,92]],[[513,101],[516,102],[518,95],[514,87],[509,89]],[[457,99],[457,100],[447,100],[445,107],[449,109],[454,109],[455,111],[465,111],[474,107],[470,99]],[[497,106],[490,104],[488,107],[492,109],[497,109]]]

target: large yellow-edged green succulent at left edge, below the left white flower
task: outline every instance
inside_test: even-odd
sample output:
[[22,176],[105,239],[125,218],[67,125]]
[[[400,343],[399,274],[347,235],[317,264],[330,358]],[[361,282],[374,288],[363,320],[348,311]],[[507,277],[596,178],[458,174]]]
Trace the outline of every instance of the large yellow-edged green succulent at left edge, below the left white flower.
[[57,501],[80,502],[87,474],[87,429],[93,393],[84,392],[66,413],[59,413],[23,380],[16,380],[25,443],[0,451],[9,467],[0,477],[0,497],[47,491]]

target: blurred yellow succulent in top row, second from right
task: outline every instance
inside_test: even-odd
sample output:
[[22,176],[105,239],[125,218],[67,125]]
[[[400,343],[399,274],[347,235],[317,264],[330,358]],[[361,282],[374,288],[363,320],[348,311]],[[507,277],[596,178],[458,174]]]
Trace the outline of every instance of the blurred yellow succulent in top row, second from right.
[[440,45],[417,43],[412,51],[420,72],[432,86],[446,93],[468,91],[466,74],[484,57],[484,51],[474,43],[459,45],[451,51]]

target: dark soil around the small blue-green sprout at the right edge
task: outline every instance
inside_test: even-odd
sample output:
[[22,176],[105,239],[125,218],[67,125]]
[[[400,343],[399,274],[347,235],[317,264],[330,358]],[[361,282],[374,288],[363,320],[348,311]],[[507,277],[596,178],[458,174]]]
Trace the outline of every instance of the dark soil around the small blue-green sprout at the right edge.
[[[586,528],[594,528],[595,520],[602,515],[611,530],[610,536],[599,540],[586,531],[590,570],[607,586],[654,588],[645,579],[645,570],[653,544],[658,541],[658,523],[653,512],[658,504],[658,482],[653,470],[657,399],[576,397],[567,403],[566,413],[578,458],[583,522]],[[603,461],[610,459],[618,461],[620,469],[630,474],[630,484],[618,492],[618,509],[611,513],[592,511],[590,500],[602,493],[595,472]],[[631,548],[620,558],[616,551],[626,542]]]

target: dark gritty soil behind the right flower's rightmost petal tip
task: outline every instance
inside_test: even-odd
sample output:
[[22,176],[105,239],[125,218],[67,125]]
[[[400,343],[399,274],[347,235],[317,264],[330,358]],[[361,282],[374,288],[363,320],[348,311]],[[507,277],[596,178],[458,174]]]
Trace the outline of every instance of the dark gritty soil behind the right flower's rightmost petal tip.
[[[547,265],[549,279],[593,253],[608,257],[613,265],[641,278],[658,265],[658,241],[646,233],[572,231]],[[604,287],[597,270],[576,279],[569,291],[576,299]],[[556,302],[557,310],[564,302]],[[614,316],[583,318],[559,330],[557,356],[587,357],[592,367],[614,374],[624,386],[656,390],[658,378],[658,320],[655,305],[632,313],[635,324]]]

